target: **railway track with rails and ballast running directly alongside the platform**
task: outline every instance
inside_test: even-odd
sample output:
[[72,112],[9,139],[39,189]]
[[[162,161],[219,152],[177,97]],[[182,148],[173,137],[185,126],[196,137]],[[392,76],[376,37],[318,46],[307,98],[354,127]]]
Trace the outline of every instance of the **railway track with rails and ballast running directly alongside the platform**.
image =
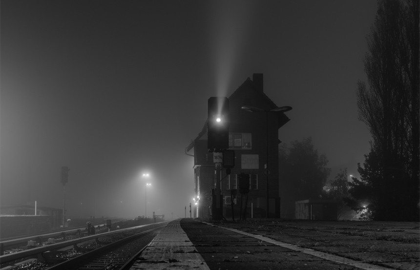
[[128,262],[137,257],[167,223],[126,228],[6,254],[0,256],[0,270],[126,269]]

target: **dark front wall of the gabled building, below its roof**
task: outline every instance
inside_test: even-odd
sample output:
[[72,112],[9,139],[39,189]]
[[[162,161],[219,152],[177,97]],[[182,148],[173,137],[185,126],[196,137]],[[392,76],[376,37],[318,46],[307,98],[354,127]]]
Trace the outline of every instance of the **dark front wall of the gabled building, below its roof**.
[[[261,77],[262,79],[262,77]],[[262,82],[261,82],[262,83]],[[256,215],[264,215],[267,209],[267,190],[269,193],[269,213],[270,217],[280,217],[280,199],[279,199],[279,178],[278,178],[278,128],[280,113],[277,112],[248,112],[243,110],[243,105],[259,107],[263,110],[270,110],[276,105],[262,92],[262,89],[256,87],[252,81],[247,80],[229,97],[229,120],[230,133],[251,133],[252,147],[235,150],[235,166],[231,169],[231,176],[240,173],[257,176],[258,188],[251,189],[248,195],[248,206],[255,209]],[[284,115],[282,116],[284,120]],[[287,118],[286,118],[287,119]],[[281,121],[280,121],[281,122]],[[211,196],[210,190],[214,188],[214,164],[212,164],[212,155],[207,151],[207,134],[200,133],[201,138],[194,142],[194,165],[196,196],[200,193],[199,217],[207,218],[210,216]],[[268,141],[268,151],[267,151]],[[243,166],[244,155],[257,155],[258,166],[247,168]],[[265,165],[271,171],[268,177],[264,175]],[[222,171],[222,178],[226,171]],[[197,182],[198,181],[198,182]],[[268,187],[267,187],[268,183]],[[199,190],[197,190],[197,188]],[[238,187],[237,187],[238,188]],[[230,187],[232,189],[232,187]],[[230,196],[230,189],[227,188],[226,181],[222,181],[222,195]],[[202,195],[203,194],[203,195]],[[240,193],[238,192],[238,196]],[[231,206],[225,205],[223,213],[228,215],[231,212]],[[259,208],[259,209],[258,209]]]

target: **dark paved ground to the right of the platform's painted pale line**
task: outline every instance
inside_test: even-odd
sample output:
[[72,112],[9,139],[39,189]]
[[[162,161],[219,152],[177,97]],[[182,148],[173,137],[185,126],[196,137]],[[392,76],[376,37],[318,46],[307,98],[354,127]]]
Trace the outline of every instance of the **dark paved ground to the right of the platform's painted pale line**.
[[313,250],[309,254],[319,251],[321,257],[334,254],[362,264],[369,262],[362,269],[369,269],[370,265],[378,269],[419,269],[419,222],[251,220],[211,221],[211,225]]

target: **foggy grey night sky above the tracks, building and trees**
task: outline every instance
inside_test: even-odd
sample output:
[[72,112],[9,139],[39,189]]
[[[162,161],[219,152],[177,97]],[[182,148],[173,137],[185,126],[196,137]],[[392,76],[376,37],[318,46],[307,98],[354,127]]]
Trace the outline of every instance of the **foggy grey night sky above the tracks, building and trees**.
[[330,167],[357,176],[371,140],[357,120],[357,80],[376,8],[1,0],[1,206],[62,208],[68,166],[68,217],[144,215],[146,183],[148,215],[183,217],[194,196],[184,151],[207,100],[252,73],[264,73],[277,106],[293,107],[283,143],[312,136]]

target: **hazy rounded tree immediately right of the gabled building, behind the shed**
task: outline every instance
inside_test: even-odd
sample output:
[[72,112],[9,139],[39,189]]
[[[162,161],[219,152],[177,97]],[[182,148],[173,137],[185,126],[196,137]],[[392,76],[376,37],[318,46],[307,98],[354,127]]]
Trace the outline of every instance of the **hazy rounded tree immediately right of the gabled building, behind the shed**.
[[325,154],[318,155],[314,149],[312,138],[294,141],[291,147],[282,145],[279,148],[280,190],[283,207],[289,209],[288,217],[294,218],[295,201],[321,198],[331,172],[327,164]]

